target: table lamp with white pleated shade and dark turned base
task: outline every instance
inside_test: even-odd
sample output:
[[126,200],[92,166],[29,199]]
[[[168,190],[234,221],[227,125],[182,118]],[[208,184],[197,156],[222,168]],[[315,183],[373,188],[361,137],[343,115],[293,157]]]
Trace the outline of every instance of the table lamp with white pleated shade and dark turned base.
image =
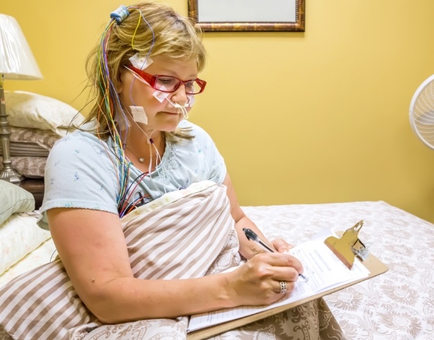
[[3,150],[3,169],[0,171],[0,180],[20,182],[23,176],[12,169],[10,160],[10,131],[3,81],[5,79],[42,79],[42,74],[17,20],[4,14],[0,14],[0,76],[0,139]]

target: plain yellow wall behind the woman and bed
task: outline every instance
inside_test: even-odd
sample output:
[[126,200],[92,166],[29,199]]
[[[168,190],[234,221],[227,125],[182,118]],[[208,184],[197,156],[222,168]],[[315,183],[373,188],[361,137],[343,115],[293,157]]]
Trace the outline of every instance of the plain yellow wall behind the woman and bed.
[[[187,14],[187,0],[166,2]],[[6,88],[81,108],[85,57],[119,4],[2,1],[44,74]],[[383,200],[434,222],[434,151],[408,121],[434,74],[433,13],[432,0],[306,0],[305,33],[205,33],[208,87],[191,120],[214,137],[240,203]]]

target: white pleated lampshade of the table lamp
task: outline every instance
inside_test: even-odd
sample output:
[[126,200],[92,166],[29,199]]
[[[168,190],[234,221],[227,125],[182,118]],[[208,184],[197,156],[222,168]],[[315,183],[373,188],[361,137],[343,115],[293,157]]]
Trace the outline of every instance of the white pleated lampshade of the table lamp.
[[0,14],[0,74],[5,79],[42,79],[17,20]]

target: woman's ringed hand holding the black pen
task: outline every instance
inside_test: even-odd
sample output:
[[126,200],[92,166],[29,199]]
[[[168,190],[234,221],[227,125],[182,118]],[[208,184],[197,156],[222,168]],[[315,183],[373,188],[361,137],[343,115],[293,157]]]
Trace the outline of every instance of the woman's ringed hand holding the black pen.
[[236,305],[269,305],[283,298],[281,281],[287,294],[303,273],[297,258],[287,253],[261,253],[231,272],[228,291]]

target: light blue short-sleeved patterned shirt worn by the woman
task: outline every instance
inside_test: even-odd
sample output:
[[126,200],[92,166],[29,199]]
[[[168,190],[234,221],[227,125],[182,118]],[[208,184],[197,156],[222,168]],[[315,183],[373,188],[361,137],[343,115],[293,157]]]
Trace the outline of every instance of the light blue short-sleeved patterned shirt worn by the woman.
[[[137,182],[131,185],[128,201],[140,195],[154,200],[165,192],[184,189],[201,180],[222,184],[226,165],[211,137],[189,121],[181,121],[180,127],[190,127],[194,139],[178,144],[167,142],[162,160],[151,176],[145,176],[137,187]],[[53,146],[45,167],[44,202],[38,222],[41,228],[49,229],[47,210],[54,207],[118,214],[118,163],[108,144],[92,133],[76,130]],[[141,174],[131,164],[128,182],[132,183]]]

